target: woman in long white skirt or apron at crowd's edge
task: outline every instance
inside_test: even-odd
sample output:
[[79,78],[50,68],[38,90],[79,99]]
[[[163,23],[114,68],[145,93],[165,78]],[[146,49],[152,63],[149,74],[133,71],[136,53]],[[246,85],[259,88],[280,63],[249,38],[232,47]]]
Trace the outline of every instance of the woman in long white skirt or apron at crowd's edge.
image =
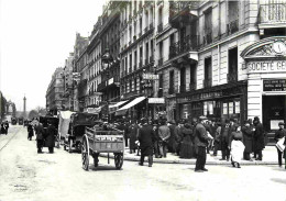
[[240,163],[243,158],[243,152],[245,146],[242,143],[243,135],[241,127],[237,126],[237,130],[231,133],[230,136],[230,150],[231,150],[231,164],[233,167],[241,168]]

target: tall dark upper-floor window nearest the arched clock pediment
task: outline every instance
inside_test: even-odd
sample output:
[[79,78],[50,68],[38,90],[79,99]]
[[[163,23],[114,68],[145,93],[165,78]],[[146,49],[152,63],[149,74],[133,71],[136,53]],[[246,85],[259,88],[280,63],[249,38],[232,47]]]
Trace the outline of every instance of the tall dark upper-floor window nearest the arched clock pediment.
[[228,82],[238,81],[238,47],[229,49]]

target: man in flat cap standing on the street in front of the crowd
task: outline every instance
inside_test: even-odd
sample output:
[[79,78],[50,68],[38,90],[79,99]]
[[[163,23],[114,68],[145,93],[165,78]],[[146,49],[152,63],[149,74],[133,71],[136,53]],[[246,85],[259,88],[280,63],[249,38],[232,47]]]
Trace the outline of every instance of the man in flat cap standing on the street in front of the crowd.
[[205,168],[207,161],[206,152],[207,152],[208,139],[209,139],[207,130],[205,127],[206,121],[207,121],[206,116],[199,116],[199,121],[195,127],[195,144],[197,146],[197,161],[196,161],[195,171],[197,172],[208,171],[208,169]]

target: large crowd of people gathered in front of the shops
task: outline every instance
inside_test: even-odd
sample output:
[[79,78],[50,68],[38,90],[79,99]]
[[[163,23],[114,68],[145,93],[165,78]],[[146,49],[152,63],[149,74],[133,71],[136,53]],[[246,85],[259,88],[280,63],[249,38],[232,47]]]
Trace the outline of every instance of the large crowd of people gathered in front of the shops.
[[[124,131],[125,146],[130,154],[138,154],[141,149],[141,161],[148,156],[148,166],[152,166],[153,155],[155,158],[167,157],[173,153],[179,158],[197,158],[196,171],[207,171],[205,168],[206,156],[217,156],[221,152],[220,160],[227,160],[233,167],[241,168],[241,159],[263,160],[265,147],[265,132],[257,116],[239,124],[234,119],[222,122],[213,122],[206,116],[194,118],[190,122],[178,122],[164,119],[150,121],[142,119],[122,121],[116,124]],[[286,136],[284,123],[279,123],[275,139]],[[286,141],[285,141],[286,144]],[[212,152],[212,153],[210,153]],[[278,152],[279,166],[282,166],[283,153]],[[251,157],[252,155],[252,157]]]

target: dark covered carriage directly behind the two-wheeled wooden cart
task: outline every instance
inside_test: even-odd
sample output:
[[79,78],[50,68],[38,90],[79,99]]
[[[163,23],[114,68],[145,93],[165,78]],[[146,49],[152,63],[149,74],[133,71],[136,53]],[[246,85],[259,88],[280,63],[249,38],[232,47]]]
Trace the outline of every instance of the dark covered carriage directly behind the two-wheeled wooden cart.
[[86,127],[95,125],[96,114],[76,112],[70,115],[68,132],[64,139],[64,149],[72,153],[81,150],[81,138]]

